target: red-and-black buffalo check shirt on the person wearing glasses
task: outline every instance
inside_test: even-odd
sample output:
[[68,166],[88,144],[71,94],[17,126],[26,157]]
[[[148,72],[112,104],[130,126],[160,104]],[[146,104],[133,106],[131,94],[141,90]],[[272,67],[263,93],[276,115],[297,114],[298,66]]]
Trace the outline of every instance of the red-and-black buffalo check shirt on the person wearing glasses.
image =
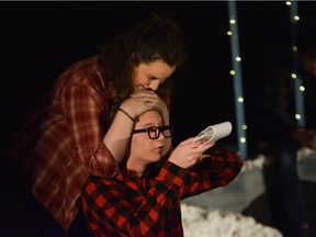
[[81,195],[90,230],[95,237],[183,236],[180,201],[228,184],[241,167],[236,155],[213,150],[191,169],[167,160],[143,178],[132,170],[113,178],[90,176]]

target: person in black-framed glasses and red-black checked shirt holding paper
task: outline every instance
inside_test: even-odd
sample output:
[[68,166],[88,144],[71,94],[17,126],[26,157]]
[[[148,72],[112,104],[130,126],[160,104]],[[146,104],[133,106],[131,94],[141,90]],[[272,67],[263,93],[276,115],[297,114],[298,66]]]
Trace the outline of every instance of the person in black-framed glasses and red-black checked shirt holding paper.
[[242,167],[242,159],[226,150],[201,159],[214,142],[201,145],[194,137],[162,159],[170,137],[160,113],[148,110],[136,117],[121,172],[88,178],[81,196],[92,236],[181,237],[180,201],[228,184]]

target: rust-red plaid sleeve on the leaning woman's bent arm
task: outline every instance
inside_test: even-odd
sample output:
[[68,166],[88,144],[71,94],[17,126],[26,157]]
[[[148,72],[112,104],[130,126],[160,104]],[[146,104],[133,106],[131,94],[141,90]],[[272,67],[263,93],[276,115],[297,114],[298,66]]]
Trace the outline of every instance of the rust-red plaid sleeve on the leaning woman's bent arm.
[[112,177],[119,166],[103,143],[108,104],[101,101],[92,88],[78,84],[65,91],[63,104],[79,158],[92,174]]

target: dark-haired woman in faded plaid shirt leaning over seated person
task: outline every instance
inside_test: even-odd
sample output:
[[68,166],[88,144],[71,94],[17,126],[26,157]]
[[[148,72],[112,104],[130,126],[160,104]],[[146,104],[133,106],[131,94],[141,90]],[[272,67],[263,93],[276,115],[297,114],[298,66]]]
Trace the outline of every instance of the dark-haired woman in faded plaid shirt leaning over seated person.
[[[80,226],[83,181],[89,173],[117,173],[134,117],[145,110],[158,108],[169,124],[167,81],[184,59],[182,30],[173,19],[155,14],[60,75],[9,154],[34,195],[32,216],[41,237],[82,236],[71,224]],[[168,139],[162,155],[170,148]]]

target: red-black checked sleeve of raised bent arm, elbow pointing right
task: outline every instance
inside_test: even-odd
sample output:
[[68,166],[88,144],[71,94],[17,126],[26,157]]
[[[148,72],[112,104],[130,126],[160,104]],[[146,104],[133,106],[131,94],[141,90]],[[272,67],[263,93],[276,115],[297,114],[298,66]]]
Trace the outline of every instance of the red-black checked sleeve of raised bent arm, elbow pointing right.
[[210,155],[190,168],[181,200],[227,185],[244,166],[242,159],[233,151],[213,149]]

